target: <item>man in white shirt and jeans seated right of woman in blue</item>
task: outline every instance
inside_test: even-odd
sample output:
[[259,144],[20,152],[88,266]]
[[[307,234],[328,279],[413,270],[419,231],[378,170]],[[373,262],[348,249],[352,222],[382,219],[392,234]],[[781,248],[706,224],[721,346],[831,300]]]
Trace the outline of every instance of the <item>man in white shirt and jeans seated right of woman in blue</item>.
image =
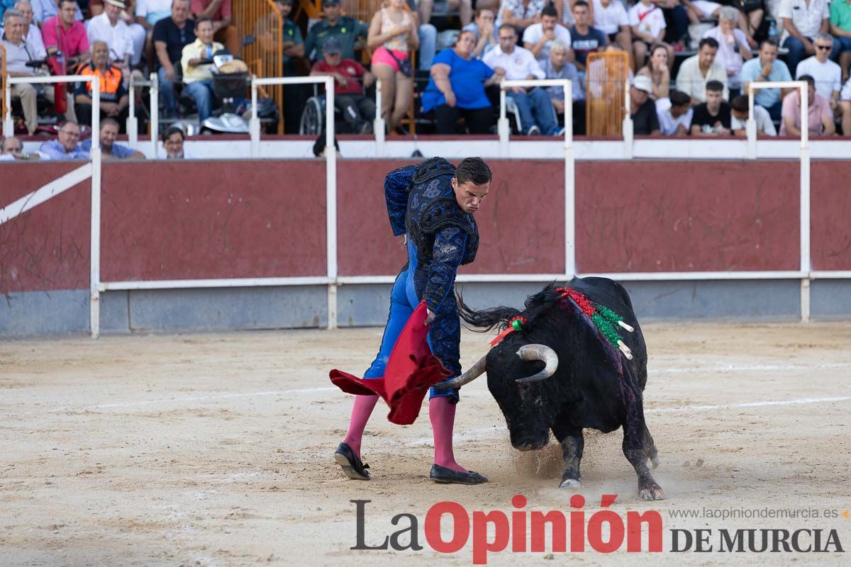
[[[531,51],[517,45],[517,31],[511,24],[500,26],[500,47],[491,49],[483,61],[500,77],[509,80],[543,79],[544,70],[538,65]],[[552,111],[550,96],[543,88],[514,87],[506,96],[517,105],[520,122],[526,135],[544,133],[558,135],[556,115]]]

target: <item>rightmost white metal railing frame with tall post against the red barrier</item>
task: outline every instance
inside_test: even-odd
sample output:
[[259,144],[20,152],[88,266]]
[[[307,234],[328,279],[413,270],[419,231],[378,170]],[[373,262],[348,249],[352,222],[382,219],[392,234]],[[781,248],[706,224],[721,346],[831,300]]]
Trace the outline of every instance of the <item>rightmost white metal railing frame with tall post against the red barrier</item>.
[[[757,88],[797,88],[800,93],[801,102],[801,167],[800,167],[800,266],[804,274],[808,274],[811,268],[810,262],[810,179],[809,179],[809,92],[806,81],[767,81],[749,82],[747,88],[748,119],[747,131],[747,157],[749,160],[757,159],[757,120],[753,114],[754,90]],[[810,315],[810,287],[809,279],[803,277],[801,280],[801,320],[808,321]]]

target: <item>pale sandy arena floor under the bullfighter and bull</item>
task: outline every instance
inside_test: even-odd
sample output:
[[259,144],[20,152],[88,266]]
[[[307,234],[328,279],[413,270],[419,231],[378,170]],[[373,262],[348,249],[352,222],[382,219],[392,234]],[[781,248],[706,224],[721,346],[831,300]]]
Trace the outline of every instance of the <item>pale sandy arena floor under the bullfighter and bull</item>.
[[[619,495],[619,514],[659,510],[665,553],[505,551],[488,564],[851,564],[851,519],[841,515],[670,515],[851,507],[851,324],[644,331],[645,408],[668,499],[638,499],[620,432],[586,437],[582,494],[588,517],[604,493]],[[426,408],[398,427],[383,405],[364,440],[375,479],[346,480],[331,455],[351,396],[328,370],[363,371],[379,340],[380,329],[349,329],[0,343],[0,565],[462,565],[470,542],[454,555],[426,543],[434,503],[507,513],[519,492],[527,509],[568,512],[557,445],[511,449],[486,378],[462,392],[456,454],[487,485],[431,483]],[[465,364],[487,340],[465,333]],[[425,548],[351,551],[356,498],[372,501],[368,544],[401,529],[391,517],[412,513]],[[764,527],[836,529],[846,553],[668,553],[672,529]]]

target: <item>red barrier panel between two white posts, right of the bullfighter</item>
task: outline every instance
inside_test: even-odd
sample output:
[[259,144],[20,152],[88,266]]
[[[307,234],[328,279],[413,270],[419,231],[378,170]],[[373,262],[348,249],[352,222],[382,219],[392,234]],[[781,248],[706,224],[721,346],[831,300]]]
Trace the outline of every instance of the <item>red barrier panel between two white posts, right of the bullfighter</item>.
[[799,187],[797,162],[577,162],[577,269],[798,269]]

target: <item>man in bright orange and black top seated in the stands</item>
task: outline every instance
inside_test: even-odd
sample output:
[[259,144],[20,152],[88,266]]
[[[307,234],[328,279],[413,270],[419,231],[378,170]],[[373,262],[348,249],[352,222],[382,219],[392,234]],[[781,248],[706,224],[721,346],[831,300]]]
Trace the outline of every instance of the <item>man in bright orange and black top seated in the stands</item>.
[[[124,123],[129,116],[130,97],[124,87],[122,71],[109,60],[109,48],[100,39],[92,43],[92,60],[83,65],[77,75],[82,77],[100,77],[100,116],[109,116]],[[74,102],[77,105],[77,116],[83,124],[92,122],[92,82],[78,81],[74,87]],[[137,111],[141,111],[137,105]],[[137,112],[137,116],[144,116]],[[144,128],[144,119],[142,119]]]

